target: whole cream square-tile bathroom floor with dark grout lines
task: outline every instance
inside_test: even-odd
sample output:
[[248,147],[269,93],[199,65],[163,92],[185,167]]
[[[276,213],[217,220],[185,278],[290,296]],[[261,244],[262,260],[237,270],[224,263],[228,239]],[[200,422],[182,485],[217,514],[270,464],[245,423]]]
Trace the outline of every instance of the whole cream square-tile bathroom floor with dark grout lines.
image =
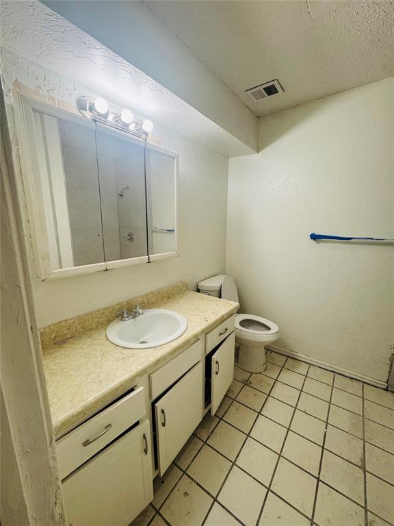
[[132,526],[394,525],[394,394],[273,352],[235,368]]

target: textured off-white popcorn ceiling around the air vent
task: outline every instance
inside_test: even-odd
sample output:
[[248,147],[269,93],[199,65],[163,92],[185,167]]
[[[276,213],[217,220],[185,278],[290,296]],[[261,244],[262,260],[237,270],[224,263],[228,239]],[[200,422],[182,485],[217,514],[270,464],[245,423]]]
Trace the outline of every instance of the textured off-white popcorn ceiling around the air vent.
[[[311,18],[304,0],[145,5],[257,116],[394,75],[394,0],[350,0]],[[254,103],[245,90],[279,79]]]

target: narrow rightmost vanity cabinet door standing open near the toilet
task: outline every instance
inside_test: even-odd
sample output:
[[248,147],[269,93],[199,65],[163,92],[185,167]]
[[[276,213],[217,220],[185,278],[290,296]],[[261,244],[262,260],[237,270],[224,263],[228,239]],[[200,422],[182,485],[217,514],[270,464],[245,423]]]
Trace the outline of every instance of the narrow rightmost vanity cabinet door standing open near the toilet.
[[211,414],[215,414],[234,377],[235,333],[227,336],[212,360]]

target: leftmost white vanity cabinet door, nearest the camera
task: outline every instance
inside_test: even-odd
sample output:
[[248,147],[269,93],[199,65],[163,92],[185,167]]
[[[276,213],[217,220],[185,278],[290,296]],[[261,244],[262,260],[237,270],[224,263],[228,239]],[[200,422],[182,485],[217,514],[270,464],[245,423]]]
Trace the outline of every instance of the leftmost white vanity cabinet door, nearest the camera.
[[153,499],[150,425],[145,421],[63,481],[68,523],[127,526]]

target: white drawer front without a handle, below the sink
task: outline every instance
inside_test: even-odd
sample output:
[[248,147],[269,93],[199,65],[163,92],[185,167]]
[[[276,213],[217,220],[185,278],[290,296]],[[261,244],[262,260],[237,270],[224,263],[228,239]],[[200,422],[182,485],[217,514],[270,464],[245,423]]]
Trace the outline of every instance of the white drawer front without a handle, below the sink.
[[150,398],[155,400],[163,391],[194,366],[203,355],[202,340],[187,347],[181,354],[149,375]]

